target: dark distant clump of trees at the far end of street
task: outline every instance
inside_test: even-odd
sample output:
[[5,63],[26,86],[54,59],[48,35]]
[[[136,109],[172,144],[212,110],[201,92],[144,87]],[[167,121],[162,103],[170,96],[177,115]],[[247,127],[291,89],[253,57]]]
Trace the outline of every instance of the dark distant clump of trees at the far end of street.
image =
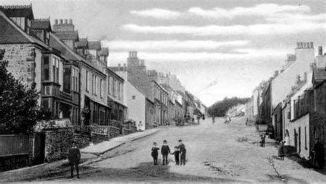
[[225,97],[224,100],[215,102],[212,106],[208,108],[208,114],[210,116],[215,117],[224,117],[226,115],[226,111],[228,111],[229,108],[232,106],[235,106],[237,104],[246,104],[248,102],[249,98],[241,98],[241,97]]

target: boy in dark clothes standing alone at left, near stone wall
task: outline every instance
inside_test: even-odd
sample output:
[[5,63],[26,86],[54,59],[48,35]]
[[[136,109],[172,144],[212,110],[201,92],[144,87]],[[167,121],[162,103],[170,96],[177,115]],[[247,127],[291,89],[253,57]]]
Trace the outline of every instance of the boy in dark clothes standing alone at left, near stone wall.
[[79,179],[78,164],[80,161],[80,151],[77,148],[77,143],[75,141],[72,142],[72,148],[70,148],[68,151],[68,161],[69,161],[70,172],[71,172],[70,178],[74,177],[74,167],[75,167],[77,172],[77,178]]

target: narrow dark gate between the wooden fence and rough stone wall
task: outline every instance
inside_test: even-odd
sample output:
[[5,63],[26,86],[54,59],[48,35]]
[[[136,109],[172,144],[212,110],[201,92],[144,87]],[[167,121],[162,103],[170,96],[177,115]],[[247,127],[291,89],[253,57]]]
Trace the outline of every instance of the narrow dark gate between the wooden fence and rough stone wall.
[[45,134],[34,134],[34,164],[44,163],[45,161]]

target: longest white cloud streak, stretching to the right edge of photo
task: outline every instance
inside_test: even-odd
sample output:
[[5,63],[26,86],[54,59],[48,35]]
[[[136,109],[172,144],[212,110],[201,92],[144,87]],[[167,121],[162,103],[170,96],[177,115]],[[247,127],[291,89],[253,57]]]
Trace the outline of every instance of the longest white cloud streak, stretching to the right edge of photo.
[[269,34],[296,34],[299,32],[312,32],[325,29],[325,23],[266,23],[254,25],[169,25],[150,26],[127,24],[122,25],[122,30],[143,34],[187,34],[193,36],[216,35],[269,35]]

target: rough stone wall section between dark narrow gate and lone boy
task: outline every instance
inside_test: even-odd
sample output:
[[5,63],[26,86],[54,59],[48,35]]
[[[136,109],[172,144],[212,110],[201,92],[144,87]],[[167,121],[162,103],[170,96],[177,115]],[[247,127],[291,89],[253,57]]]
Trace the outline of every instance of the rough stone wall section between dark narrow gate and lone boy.
[[74,137],[72,128],[45,131],[45,161],[51,162],[67,157]]

